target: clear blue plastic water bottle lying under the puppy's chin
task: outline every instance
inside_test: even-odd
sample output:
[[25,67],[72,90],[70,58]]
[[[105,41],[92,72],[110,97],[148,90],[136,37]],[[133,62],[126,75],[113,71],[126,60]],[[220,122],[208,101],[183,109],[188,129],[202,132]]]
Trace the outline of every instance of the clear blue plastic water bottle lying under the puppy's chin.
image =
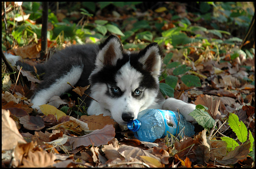
[[[174,136],[183,130],[186,136],[195,134],[194,126],[186,121],[184,117],[175,111],[145,109],[139,112],[137,119],[128,122],[127,127],[134,132],[134,136],[141,141],[154,142],[157,138],[162,138],[169,131]],[[182,137],[183,137],[182,132]]]

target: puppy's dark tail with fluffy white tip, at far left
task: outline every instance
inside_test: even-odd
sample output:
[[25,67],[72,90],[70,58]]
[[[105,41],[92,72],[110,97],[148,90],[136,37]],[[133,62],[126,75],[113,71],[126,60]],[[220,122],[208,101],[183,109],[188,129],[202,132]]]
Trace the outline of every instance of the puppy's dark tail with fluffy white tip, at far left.
[[[20,56],[15,56],[10,53],[4,54],[6,59],[11,63],[12,66],[19,65],[22,66],[24,70],[35,72],[35,69],[33,66],[29,65],[28,63],[25,63],[22,61],[22,58]],[[35,68],[37,69],[37,74],[42,74],[45,72],[45,68],[43,64],[37,64],[35,65]]]

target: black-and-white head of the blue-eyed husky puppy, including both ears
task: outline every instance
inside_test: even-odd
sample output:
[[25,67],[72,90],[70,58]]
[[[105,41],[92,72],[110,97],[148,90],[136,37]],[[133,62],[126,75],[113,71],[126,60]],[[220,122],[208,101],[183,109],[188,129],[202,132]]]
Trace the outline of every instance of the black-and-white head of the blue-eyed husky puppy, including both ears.
[[89,77],[91,96],[111,112],[117,123],[127,124],[155,103],[161,69],[157,43],[130,53],[123,49],[119,38],[112,35],[100,45],[95,64]]

